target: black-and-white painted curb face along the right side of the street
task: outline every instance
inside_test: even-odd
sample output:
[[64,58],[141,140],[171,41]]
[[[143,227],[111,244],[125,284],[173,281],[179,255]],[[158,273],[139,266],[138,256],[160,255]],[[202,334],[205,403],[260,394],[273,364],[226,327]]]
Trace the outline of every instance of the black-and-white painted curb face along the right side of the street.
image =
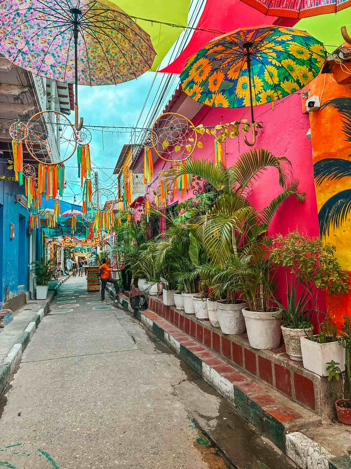
[[[256,427],[258,431],[267,436],[301,469],[351,469],[351,458],[349,456],[334,457],[323,446],[318,445],[300,431],[286,433],[283,425],[273,416],[267,413],[262,415],[263,409],[256,402],[249,402],[250,399],[246,394],[236,388],[225,376],[214,370],[212,366],[195,355],[190,348],[183,346],[172,334],[167,333],[160,325],[153,321],[153,318],[159,318],[161,324],[164,321],[164,324],[167,323],[169,327],[172,327],[171,323],[168,323],[152,311],[133,311],[129,300],[123,297],[124,295],[116,295],[110,287],[107,287],[107,290],[125,310],[131,311],[135,318],[139,319],[156,337],[165,342],[177,356],[180,356],[192,370],[225,397],[235,407],[236,412]],[[147,316],[145,313],[147,313]],[[181,332],[179,331],[179,333]]]

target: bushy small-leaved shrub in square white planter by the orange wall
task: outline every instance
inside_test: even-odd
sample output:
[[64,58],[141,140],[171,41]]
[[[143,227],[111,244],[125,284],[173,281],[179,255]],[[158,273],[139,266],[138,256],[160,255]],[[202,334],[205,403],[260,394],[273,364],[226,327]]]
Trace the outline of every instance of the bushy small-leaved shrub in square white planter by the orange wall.
[[[272,242],[271,258],[277,264],[290,267],[313,304],[318,322],[317,334],[311,330],[301,334],[300,345],[303,366],[319,376],[328,376],[327,363],[344,363],[344,352],[336,333],[329,325],[330,312],[336,307],[332,300],[347,293],[350,286],[348,275],[334,257],[336,247],[322,242],[320,238],[309,237],[295,230],[282,236],[278,234]],[[325,308],[318,302],[318,293],[328,292]],[[307,297],[306,297],[307,299]]]

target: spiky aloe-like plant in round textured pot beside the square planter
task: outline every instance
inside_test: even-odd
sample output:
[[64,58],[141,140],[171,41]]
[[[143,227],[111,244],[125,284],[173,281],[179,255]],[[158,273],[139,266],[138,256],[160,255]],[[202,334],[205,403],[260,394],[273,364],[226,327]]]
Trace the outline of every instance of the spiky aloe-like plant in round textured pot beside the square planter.
[[[279,306],[278,315],[281,316],[281,330],[285,342],[286,353],[292,360],[302,361],[300,337],[312,332],[311,314],[312,310],[308,309],[311,300],[307,300],[309,295],[306,290],[303,291],[299,300],[297,300],[297,285],[291,279],[291,290],[289,286],[287,272],[286,277],[286,296],[287,306],[283,306],[276,301]],[[281,313],[281,314],[280,314]]]

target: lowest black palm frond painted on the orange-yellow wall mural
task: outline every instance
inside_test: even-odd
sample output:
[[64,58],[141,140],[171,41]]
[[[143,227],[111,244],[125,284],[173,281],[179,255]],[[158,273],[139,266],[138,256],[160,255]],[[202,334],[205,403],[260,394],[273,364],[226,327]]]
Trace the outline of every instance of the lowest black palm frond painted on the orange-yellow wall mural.
[[342,190],[330,197],[318,213],[319,234],[329,235],[330,229],[338,229],[351,211],[351,189]]

